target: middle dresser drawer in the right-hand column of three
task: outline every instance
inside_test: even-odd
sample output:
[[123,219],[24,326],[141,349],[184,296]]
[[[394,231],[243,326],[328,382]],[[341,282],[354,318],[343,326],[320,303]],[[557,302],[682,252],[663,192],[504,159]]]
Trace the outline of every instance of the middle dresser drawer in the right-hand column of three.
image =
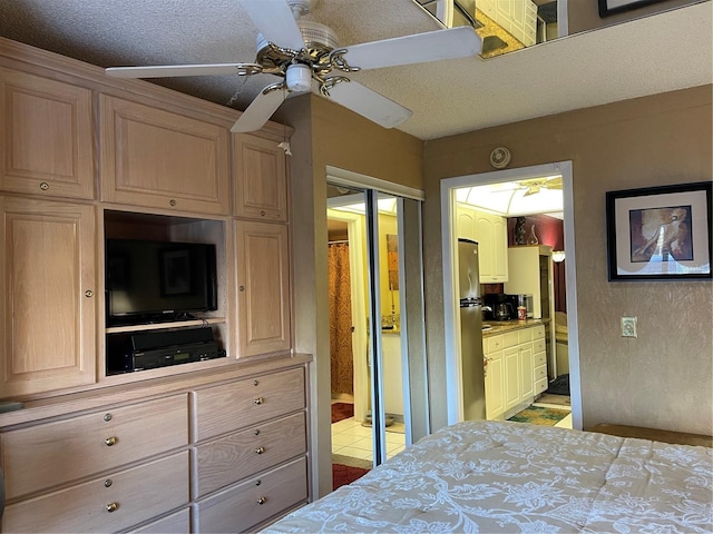
[[299,413],[199,445],[197,496],[304,454],[305,434]]

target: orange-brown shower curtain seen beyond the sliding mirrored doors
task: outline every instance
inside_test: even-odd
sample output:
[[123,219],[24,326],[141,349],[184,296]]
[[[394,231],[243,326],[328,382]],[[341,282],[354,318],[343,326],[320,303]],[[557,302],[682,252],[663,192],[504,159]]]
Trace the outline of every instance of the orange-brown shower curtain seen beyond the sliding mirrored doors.
[[329,264],[332,393],[353,395],[354,357],[352,354],[352,300],[348,243],[330,244]]

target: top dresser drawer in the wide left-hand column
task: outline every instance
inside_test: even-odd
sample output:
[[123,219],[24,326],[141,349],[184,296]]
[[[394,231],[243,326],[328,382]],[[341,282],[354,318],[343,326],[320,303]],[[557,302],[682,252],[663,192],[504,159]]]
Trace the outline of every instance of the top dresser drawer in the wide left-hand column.
[[7,496],[19,497],[187,445],[187,395],[10,431],[0,444]]

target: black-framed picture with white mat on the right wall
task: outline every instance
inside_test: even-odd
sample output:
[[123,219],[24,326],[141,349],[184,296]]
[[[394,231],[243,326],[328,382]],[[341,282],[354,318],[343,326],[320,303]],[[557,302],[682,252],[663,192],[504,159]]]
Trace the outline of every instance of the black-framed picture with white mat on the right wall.
[[609,281],[712,279],[712,182],[606,192]]

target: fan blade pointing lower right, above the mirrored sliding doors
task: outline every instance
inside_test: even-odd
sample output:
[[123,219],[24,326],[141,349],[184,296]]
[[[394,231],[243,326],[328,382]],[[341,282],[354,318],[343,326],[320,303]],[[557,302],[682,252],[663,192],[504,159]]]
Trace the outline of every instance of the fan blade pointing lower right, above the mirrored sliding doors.
[[336,103],[384,128],[399,126],[413,115],[410,109],[355,81],[336,83],[329,90],[329,96]]

